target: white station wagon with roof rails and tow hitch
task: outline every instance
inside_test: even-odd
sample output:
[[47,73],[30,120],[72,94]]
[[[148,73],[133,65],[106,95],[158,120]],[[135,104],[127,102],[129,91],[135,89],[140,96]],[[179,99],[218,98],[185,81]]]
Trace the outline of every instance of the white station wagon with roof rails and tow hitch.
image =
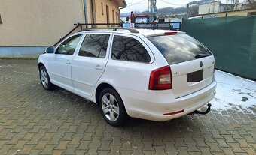
[[215,58],[179,31],[84,30],[38,58],[44,89],[54,85],[99,105],[105,121],[169,121],[195,112],[215,95]]

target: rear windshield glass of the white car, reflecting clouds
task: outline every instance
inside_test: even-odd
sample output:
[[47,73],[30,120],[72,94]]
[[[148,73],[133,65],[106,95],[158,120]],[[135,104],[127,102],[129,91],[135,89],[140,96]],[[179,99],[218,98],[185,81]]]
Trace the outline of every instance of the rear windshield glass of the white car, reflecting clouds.
[[148,37],[169,64],[178,64],[212,55],[205,46],[187,34]]

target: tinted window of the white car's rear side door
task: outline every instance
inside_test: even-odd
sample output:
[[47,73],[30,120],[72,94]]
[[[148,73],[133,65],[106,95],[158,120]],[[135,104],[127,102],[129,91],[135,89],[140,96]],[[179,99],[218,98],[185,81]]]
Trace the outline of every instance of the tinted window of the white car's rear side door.
[[105,58],[109,34],[87,34],[84,37],[79,56]]

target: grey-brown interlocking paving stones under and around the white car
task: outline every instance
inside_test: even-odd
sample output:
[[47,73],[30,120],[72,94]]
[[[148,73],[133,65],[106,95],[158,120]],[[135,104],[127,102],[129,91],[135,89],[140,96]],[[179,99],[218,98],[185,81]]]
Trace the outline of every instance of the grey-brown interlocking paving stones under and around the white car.
[[0,60],[0,154],[255,154],[255,112],[213,109],[111,127],[96,104],[45,91],[36,61]]

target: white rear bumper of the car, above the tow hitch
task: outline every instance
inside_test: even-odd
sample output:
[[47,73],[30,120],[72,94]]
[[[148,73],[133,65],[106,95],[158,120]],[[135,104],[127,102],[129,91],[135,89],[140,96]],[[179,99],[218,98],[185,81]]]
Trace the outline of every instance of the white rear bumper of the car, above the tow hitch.
[[[164,94],[142,93],[122,88],[118,91],[130,117],[152,121],[169,121],[194,112],[209,103],[215,96],[216,85],[217,82],[213,80],[206,88],[178,98],[174,97],[171,90]],[[163,115],[182,110],[184,111],[175,115]]]

